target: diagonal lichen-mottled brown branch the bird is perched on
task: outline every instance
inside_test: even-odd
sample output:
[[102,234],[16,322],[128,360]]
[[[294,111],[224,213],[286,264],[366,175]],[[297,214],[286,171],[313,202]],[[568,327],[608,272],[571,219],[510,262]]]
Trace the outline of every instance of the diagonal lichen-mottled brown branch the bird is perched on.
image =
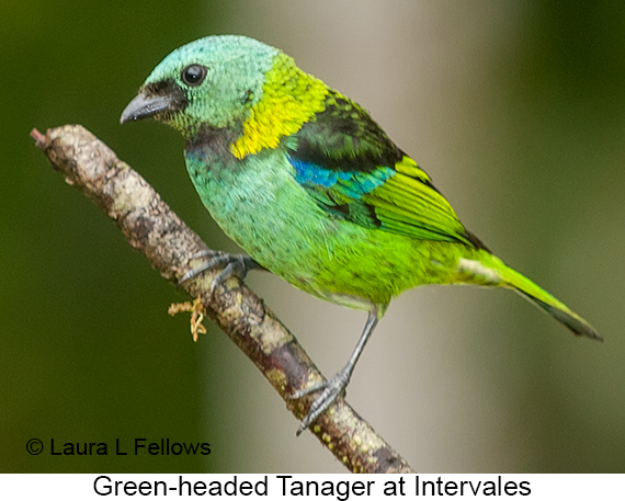
[[[65,125],[31,136],[53,169],[115,220],[128,243],[145,254],[163,278],[178,284],[189,270],[189,257],[207,246],[161,200],[158,193],[113,150],[80,125]],[[202,304],[221,330],[257,365],[302,419],[312,396],[291,400],[294,391],[321,380],[312,361],[293,334],[236,277],[211,297],[218,272],[207,272],[182,286]],[[321,414],[310,430],[354,472],[414,472],[342,398]]]

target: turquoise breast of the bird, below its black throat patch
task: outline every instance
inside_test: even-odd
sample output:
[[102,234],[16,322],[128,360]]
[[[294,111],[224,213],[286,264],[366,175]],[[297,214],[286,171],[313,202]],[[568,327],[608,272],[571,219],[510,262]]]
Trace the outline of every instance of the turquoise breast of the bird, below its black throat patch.
[[[255,155],[219,164],[188,155],[186,166],[212,217],[254,260],[282,276],[297,267],[299,280],[322,265],[319,247],[337,224],[295,181],[286,157]],[[307,269],[294,266],[298,260]]]

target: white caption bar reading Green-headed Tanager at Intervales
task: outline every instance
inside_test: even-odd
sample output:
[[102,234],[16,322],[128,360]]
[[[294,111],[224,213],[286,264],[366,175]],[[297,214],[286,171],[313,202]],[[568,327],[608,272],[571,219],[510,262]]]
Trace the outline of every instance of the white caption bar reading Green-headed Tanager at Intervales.
[[1,475],[3,499],[625,500],[625,475]]

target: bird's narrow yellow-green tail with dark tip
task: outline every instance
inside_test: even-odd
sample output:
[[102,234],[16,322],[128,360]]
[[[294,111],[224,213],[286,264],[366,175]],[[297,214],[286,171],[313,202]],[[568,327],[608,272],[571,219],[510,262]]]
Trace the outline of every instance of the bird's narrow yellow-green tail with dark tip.
[[[603,341],[603,338],[599,335],[596,330],[590,323],[571,311],[564,303],[560,303],[526,276],[523,276],[521,273],[503,264],[503,262],[495,258],[492,254],[490,254],[489,258],[493,258],[495,262],[480,264],[488,266],[490,273],[495,271],[497,275],[499,275],[501,282],[497,285],[516,291],[521,296],[566,326],[573,334],[586,335],[591,339]],[[473,261],[473,263],[475,263],[475,261]]]

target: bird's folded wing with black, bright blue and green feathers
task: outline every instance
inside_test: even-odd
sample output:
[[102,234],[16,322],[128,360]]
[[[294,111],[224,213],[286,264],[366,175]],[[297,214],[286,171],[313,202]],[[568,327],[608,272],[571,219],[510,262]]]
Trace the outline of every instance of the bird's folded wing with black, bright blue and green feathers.
[[429,175],[352,101],[326,110],[287,141],[297,182],[332,217],[422,240],[484,244],[468,232]]

